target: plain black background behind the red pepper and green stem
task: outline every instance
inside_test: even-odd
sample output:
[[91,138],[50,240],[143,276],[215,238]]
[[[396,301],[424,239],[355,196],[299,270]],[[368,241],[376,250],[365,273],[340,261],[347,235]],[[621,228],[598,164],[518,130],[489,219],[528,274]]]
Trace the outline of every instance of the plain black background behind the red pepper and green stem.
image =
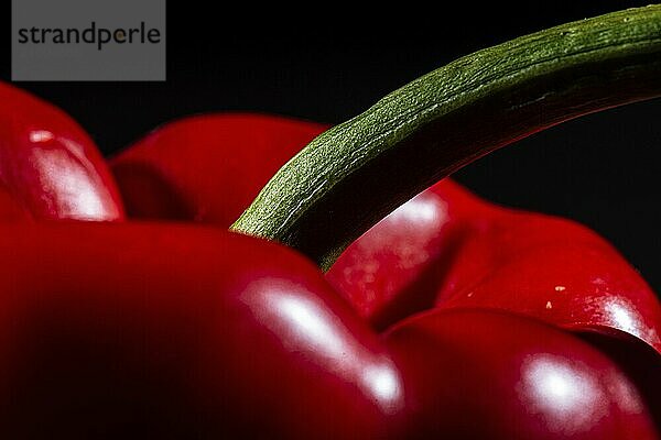
[[[215,3],[215,4],[212,4]],[[167,4],[167,81],[20,82],[65,109],[111,155],[153,128],[208,111],[337,123],[454,58],[566,21],[647,2]],[[590,4],[592,3],[592,4]],[[10,78],[6,18],[0,77]],[[47,66],[44,66],[47,68]],[[655,176],[661,100],[584,117],[464,168],[455,178],[496,202],[581,221],[661,292]]]

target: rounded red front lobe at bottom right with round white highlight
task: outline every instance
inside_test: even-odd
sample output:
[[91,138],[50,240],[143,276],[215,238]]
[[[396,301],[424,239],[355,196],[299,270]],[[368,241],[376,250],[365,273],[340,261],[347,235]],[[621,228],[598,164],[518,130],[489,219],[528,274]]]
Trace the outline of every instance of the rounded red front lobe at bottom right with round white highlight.
[[407,389],[407,438],[657,438],[626,375],[540,321],[437,309],[386,341]]

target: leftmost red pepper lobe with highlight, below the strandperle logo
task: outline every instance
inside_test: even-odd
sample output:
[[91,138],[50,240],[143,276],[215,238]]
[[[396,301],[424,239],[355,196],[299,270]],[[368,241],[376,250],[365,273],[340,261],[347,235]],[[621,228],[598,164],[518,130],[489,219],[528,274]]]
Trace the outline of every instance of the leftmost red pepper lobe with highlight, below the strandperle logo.
[[89,135],[62,110],[1,81],[0,186],[34,219],[123,218],[113,177]]

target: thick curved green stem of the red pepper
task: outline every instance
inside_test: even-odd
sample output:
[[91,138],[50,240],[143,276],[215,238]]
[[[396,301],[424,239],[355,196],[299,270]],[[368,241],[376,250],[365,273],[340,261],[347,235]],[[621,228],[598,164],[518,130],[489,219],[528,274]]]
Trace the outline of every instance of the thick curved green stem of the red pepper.
[[560,122],[661,96],[661,6],[609,13],[476,52],[313,140],[232,226],[327,268],[415,194]]

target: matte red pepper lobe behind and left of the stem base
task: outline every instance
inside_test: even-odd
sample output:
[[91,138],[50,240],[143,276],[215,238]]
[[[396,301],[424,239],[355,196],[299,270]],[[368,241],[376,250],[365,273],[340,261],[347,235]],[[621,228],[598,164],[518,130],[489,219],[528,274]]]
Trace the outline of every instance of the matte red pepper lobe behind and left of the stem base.
[[228,228],[326,125],[253,113],[167,123],[111,161],[129,217]]

